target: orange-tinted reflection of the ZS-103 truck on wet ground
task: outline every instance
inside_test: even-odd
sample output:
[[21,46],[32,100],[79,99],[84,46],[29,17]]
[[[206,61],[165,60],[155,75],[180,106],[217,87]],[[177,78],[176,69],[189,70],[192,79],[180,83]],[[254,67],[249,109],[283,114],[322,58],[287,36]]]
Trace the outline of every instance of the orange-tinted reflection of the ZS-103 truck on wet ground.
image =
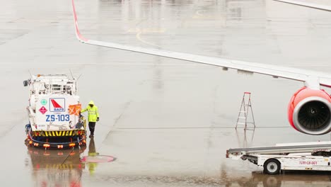
[[28,147],[30,159],[26,159],[25,166],[33,170],[33,186],[81,186],[85,164],[80,162],[80,154],[85,149],[45,150]]

